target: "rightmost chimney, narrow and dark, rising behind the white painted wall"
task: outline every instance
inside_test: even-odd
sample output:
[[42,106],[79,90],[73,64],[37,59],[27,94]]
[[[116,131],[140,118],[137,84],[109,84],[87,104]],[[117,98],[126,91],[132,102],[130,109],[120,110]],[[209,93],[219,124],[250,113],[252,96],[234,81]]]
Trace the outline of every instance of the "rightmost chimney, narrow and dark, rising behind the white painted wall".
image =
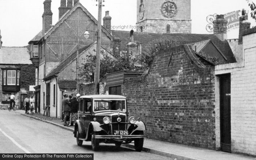
[[238,44],[243,43],[243,33],[245,30],[251,28],[251,23],[248,21],[248,14],[245,13],[245,10],[242,9],[242,16],[239,18],[239,38]]

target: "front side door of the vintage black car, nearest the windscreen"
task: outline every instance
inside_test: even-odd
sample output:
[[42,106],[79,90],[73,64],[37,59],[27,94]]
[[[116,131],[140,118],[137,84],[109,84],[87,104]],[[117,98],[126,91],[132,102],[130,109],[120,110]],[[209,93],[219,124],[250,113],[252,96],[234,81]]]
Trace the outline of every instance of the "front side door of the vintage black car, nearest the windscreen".
[[91,122],[91,99],[84,99],[84,128],[85,132],[87,133],[87,129],[89,127],[89,124]]

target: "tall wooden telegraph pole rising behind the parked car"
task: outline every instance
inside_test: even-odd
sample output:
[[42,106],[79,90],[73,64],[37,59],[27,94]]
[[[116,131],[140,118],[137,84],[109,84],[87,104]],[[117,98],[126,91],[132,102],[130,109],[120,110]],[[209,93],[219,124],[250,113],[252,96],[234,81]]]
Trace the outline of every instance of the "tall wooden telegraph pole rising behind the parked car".
[[99,94],[99,69],[101,64],[101,15],[102,15],[102,0],[98,0],[98,36],[97,36],[97,51],[96,51],[96,67],[94,72],[94,94]]

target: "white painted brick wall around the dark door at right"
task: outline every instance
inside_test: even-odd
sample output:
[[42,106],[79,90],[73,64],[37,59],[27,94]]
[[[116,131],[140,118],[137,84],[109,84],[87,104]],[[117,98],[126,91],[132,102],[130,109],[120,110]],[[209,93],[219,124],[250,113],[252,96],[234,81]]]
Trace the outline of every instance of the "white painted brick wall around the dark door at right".
[[[256,33],[243,37],[244,61],[218,65],[215,75],[231,73],[231,151],[256,155]],[[216,79],[218,77],[216,76]],[[216,147],[220,146],[219,83],[215,83]]]

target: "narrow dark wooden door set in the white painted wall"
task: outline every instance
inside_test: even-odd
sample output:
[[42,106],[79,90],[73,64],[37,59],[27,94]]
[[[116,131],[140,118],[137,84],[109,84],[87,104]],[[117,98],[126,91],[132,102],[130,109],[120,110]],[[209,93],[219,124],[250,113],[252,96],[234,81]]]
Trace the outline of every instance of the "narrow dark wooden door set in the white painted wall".
[[231,152],[230,74],[220,76],[221,150]]

